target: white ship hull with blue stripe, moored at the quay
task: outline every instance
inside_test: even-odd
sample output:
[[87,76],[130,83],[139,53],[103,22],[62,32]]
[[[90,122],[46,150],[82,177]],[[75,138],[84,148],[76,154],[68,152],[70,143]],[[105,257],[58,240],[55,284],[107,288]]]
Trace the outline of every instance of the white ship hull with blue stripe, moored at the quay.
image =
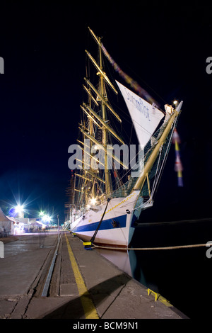
[[93,241],[103,247],[117,247],[126,249],[134,234],[135,222],[139,218],[141,208],[134,209],[139,191],[133,191],[126,198],[113,198],[108,203],[88,210],[81,218],[71,223],[71,232],[84,242],[90,242],[97,229],[107,205],[100,229]]

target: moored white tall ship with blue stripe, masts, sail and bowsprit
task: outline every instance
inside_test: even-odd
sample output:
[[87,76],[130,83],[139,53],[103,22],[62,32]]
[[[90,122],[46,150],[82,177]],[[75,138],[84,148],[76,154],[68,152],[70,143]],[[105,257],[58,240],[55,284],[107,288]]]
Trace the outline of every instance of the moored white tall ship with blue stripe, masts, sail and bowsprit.
[[[94,69],[97,75],[91,76],[86,71],[83,84],[86,101],[79,108],[80,135],[76,145],[69,147],[72,176],[66,227],[86,247],[95,244],[127,249],[142,210],[153,205],[182,101],[175,108],[166,104],[163,111],[150,98],[109,79],[105,57],[122,79],[127,81],[129,77],[123,75],[110,57],[101,38],[89,30],[98,59],[87,50],[86,55],[89,69]],[[95,83],[90,77],[95,77]],[[110,102],[109,96],[113,99],[118,94],[126,111]],[[126,112],[131,124],[125,132],[131,132],[131,125],[134,127],[136,145],[130,145],[122,137],[122,117],[126,118]]]

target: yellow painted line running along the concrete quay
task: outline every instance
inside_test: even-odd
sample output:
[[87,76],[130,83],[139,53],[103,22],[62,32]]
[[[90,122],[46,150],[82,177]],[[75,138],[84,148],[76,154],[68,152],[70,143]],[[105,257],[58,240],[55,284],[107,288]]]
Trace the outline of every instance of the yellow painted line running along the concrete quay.
[[[66,234],[65,234],[66,236]],[[99,319],[98,313],[95,309],[92,299],[90,298],[90,294],[88,289],[86,288],[86,284],[83,281],[83,277],[81,276],[81,272],[78,269],[78,264],[76,263],[75,257],[71,250],[71,246],[69,244],[68,237],[66,236],[66,243],[69,252],[69,259],[71,261],[71,267],[73,269],[73,274],[76,280],[76,285],[78,288],[78,293],[81,298],[81,303],[83,305],[83,310],[85,313],[86,319]]]

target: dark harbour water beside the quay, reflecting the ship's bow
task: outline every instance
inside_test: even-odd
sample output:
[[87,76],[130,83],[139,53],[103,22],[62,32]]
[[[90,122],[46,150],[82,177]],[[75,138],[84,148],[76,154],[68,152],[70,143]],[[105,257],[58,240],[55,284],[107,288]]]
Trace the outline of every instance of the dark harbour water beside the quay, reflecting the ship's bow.
[[[212,241],[212,219],[146,223],[136,227],[132,248],[204,244]],[[209,247],[103,254],[144,286],[163,295],[191,319],[210,318],[212,258]],[[212,254],[212,249],[211,252]]]

